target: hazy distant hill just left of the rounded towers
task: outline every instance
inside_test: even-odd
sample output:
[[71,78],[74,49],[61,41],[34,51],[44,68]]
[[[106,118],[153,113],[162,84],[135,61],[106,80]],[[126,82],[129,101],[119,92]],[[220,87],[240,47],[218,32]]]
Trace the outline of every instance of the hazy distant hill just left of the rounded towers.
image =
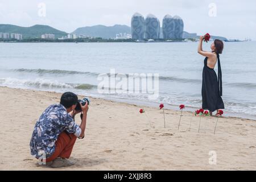
[[77,28],[72,34],[94,36],[104,39],[115,38],[116,34],[131,34],[131,28],[126,25],[115,24],[114,26],[96,25],[92,27]]

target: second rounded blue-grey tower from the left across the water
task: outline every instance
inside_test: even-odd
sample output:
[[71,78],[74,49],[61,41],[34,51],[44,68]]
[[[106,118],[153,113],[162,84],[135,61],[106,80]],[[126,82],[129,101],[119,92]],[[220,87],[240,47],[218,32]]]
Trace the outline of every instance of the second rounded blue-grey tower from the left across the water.
[[145,38],[146,39],[159,39],[160,35],[160,22],[155,15],[148,14],[145,20],[146,25],[146,32]]

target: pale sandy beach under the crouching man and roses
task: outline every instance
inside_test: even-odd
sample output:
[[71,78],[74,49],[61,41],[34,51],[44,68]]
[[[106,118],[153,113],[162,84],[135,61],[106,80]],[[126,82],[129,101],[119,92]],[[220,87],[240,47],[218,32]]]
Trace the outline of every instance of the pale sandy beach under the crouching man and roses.
[[[60,96],[0,87],[1,170],[53,170],[36,165],[29,143],[36,120]],[[177,131],[180,111],[164,110],[164,129],[159,108],[90,99],[85,139],[78,139],[72,152],[76,165],[59,170],[256,169],[256,121],[222,117],[214,135],[217,118],[202,117],[198,133],[200,118],[184,111]],[[212,154],[216,164],[209,163]]]

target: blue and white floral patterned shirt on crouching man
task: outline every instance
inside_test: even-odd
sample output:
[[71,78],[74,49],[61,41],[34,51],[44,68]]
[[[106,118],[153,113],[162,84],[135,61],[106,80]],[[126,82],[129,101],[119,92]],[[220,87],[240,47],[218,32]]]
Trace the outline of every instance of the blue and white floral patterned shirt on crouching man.
[[45,152],[46,158],[49,158],[55,151],[55,142],[59,135],[67,131],[81,135],[81,128],[61,104],[49,106],[40,116],[35,124],[34,131],[30,140],[31,155],[36,158],[42,156]]

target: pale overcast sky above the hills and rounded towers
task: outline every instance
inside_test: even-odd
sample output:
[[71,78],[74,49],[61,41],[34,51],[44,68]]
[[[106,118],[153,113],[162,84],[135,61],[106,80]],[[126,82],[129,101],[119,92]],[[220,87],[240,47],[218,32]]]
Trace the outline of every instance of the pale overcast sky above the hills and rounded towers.
[[[46,5],[46,16],[43,7],[38,7],[40,3]],[[255,0],[0,0],[0,24],[47,24],[72,32],[96,24],[130,26],[131,16],[138,12],[144,16],[154,14],[161,24],[164,15],[179,15],[184,31],[199,35],[209,32],[231,39],[256,40],[255,7]]]

